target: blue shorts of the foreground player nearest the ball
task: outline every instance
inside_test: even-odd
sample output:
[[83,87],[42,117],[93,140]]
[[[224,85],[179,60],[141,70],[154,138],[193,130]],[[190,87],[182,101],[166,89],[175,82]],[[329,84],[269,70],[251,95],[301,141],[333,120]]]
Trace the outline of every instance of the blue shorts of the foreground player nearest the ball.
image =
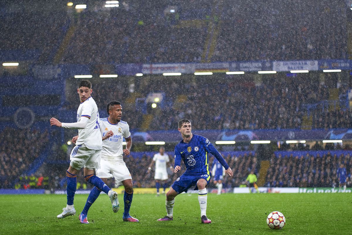
[[199,179],[205,179],[207,181],[207,184],[209,184],[210,177],[210,173],[204,173],[199,175],[190,175],[187,173],[183,173],[180,177],[177,178],[177,180],[171,185],[171,187],[177,193],[187,192],[187,190],[192,186],[196,186],[194,190],[198,190],[197,181]]

